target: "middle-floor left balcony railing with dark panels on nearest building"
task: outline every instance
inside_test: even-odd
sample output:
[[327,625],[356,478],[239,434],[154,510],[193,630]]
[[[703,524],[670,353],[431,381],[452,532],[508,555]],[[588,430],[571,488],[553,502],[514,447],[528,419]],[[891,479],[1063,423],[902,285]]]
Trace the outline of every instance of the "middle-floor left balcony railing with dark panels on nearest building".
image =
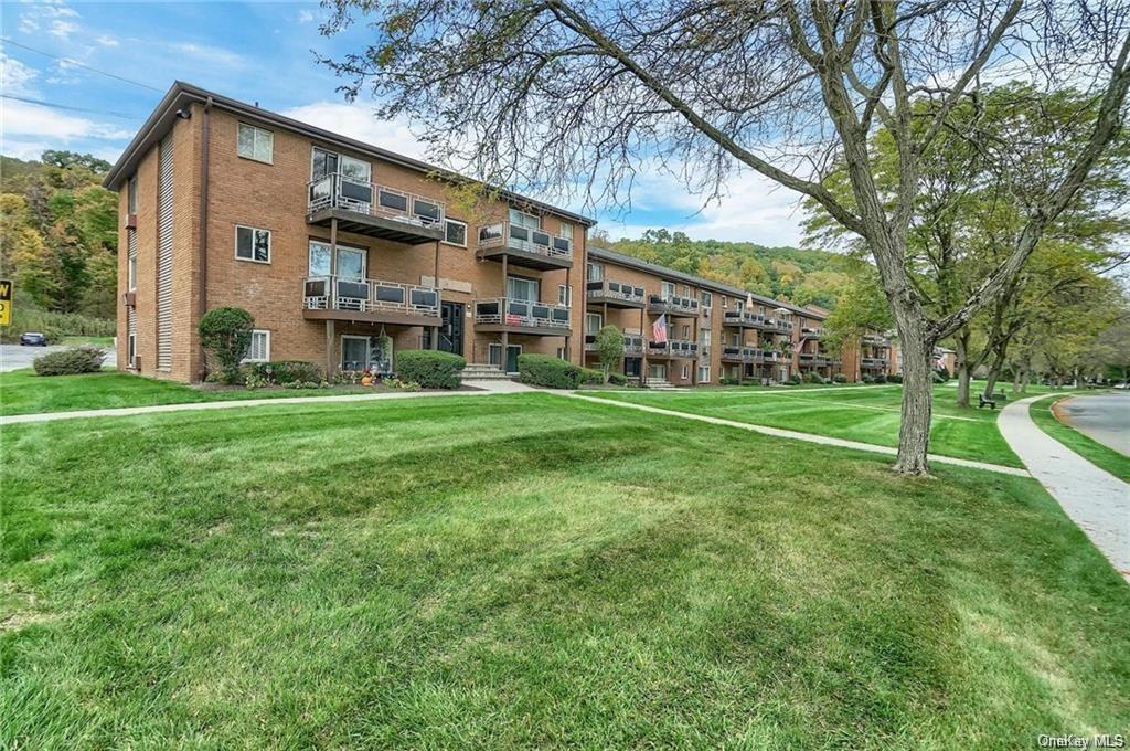
[[312,276],[303,285],[303,307],[306,310],[390,311],[436,317],[440,314],[440,291],[380,279]]

